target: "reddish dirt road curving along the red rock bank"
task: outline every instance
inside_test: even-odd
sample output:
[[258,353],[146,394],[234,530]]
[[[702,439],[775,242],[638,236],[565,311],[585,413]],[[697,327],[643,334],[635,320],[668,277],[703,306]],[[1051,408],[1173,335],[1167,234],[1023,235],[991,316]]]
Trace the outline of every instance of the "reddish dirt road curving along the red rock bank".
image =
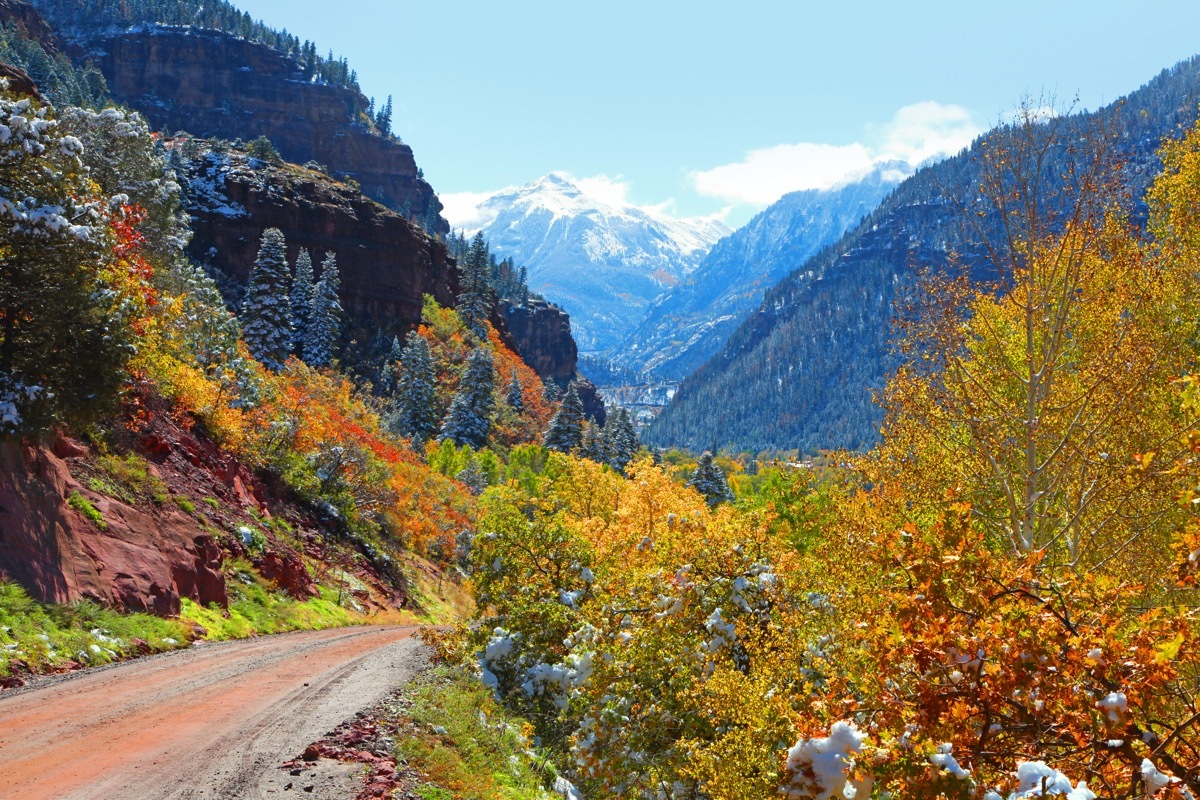
[[0,798],[353,798],[354,766],[278,766],[420,669],[414,630],[203,644],[5,693]]

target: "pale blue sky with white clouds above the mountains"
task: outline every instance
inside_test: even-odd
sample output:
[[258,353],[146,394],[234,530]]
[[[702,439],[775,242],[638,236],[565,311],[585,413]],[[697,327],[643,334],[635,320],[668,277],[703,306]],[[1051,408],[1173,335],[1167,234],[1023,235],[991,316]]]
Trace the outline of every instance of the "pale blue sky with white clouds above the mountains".
[[785,191],[956,150],[1022,96],[1096,108],[1200,53],[1195,0],[234,2],[395,96],[451,222],[563,170],[737,225]]

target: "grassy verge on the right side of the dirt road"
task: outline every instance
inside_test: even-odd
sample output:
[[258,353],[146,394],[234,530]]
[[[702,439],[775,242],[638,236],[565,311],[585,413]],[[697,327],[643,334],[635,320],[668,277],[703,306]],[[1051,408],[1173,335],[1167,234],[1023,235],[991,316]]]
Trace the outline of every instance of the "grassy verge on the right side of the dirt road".
[[553,765],[532,750],[532,726],[505,711],[479,680],[437,667],[410,697],[408,715],[420,733],[403,736],[396,752],[425,776],[427,784],[416,790],[424,800],[558,796],[547,790]]

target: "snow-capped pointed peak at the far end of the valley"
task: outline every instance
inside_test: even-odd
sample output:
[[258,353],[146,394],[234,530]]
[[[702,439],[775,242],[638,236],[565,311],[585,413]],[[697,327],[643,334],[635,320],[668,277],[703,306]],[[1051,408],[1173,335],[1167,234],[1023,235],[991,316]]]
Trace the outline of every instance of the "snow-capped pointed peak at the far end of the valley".
[[571,314],[582,350],[619,344],[650,301],[730,233],[714,219],[606,201],[563,173],[498,192],[479,211],[492,252],[523,264],[529,288]]

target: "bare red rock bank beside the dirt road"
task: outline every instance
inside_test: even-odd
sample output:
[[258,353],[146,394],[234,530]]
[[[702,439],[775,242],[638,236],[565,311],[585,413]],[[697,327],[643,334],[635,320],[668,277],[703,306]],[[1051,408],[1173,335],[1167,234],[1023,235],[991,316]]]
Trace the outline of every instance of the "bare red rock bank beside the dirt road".
[[[140,459],[157,482],[155,497],[114,488],[103,459],[80,441],[0,444],[0,581],[43,602],[88,599],[174,615],[184,597],[228,604],[227,581],[236,578],[239,560],[299,600],[317,596],[307,564],[337,561],[353,564],[353,595],[362,608],[406,602],[402,582],[348,553],[311,510],[282,499],[203,433],[181,427],[161,402],[142,398],[139,408],[149,414],[137,425],[126,420],[114,446]],[[281,537],[263,523],[272,517],[287,519],[294,533]],[[247,545],[244,527],[262,542]]]

